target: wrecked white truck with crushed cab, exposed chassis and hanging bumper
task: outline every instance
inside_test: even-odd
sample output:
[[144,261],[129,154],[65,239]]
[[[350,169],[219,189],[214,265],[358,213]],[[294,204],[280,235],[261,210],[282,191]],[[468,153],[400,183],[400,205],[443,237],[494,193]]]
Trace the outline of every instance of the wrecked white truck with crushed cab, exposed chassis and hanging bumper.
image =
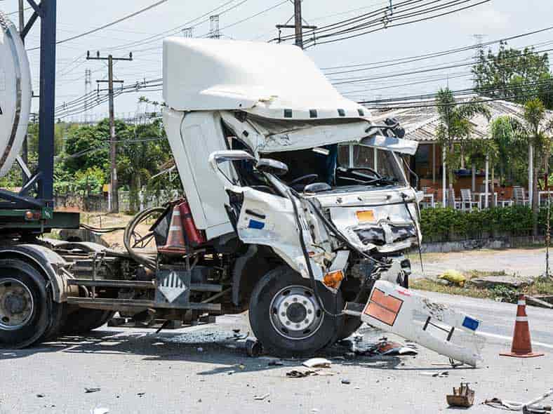
[[295,46],[166,39],[164,100],[186,199],[138,213],[126,251],[3,230],[0,347],[114,312],[194,324],[248,310],[274,354],[312,354],[367,321],[476,364],[452,337],[480,321],[408,290],[421,234],[401,156],[416,143],[397,121],[373,123]]

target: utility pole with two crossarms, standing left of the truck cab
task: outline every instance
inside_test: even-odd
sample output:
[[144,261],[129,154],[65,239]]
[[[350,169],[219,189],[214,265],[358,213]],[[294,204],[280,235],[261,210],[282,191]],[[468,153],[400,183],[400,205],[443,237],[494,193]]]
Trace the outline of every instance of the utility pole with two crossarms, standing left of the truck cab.
[[[91,57],[91,52],[86,52],[87,60],[107,60],[107,81],[96,81],[98,84],[107,82],[107,93],[109,94],[109,158],[111,163],[110,168],[110,183],[109,186],[109,199],[111,203],[109,205],[109,213],[119,213],[119,194],[117,192],[117,148],[116,148],[116,136],[115,136],[115,111],[114,111],[114,94],[113,84],[122,84],[123,81],[114,81],[113,79],[113,62],[116,60],[133,60],[133,53],[128,54],[128,58],[114,58],[113,55],[107,55],[107,57],[100,57],[100,52],[96,52],[95,57]],[[100,89],[98,89],[100,91]]]

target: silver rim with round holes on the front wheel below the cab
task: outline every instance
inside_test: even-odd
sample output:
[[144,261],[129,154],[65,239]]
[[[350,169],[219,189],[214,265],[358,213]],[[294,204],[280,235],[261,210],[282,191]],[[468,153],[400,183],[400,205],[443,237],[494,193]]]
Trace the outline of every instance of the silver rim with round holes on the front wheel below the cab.
[[276,332],[291,340],[304,340],[314,335],[324,319],[312,289],[305,286],[281,289],[274,295],[269,312]]

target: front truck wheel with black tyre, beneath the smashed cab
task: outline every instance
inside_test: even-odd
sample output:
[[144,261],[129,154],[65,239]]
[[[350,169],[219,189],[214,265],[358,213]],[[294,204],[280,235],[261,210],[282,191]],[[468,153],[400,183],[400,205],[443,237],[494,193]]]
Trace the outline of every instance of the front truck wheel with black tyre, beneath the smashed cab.
[[[333,295],[320,282],[324,308],[338,314],[342,295]],[[344,323],[343,316],[324,312],[309,279],[288,266],[271,270],[258,281],[250,300],[250,324],[255,336],[271,354],[307,356],[332,345]]]

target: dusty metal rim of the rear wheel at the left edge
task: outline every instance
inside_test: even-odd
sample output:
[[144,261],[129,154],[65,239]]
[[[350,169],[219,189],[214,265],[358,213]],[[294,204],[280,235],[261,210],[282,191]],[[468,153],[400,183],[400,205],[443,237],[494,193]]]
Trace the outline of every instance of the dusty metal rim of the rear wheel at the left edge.
[[0,280],[0,328],[17,330],[32,318],[34,301],[29,288],[18,279]]

